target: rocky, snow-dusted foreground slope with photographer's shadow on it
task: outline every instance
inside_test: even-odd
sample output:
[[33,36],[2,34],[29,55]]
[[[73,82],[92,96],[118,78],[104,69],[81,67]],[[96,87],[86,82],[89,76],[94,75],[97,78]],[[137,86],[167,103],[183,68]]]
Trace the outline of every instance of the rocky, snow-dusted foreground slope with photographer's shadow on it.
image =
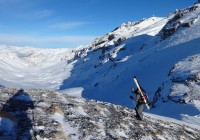
[[0,88],[0,139],[199,139],[199,129],[48,90]]

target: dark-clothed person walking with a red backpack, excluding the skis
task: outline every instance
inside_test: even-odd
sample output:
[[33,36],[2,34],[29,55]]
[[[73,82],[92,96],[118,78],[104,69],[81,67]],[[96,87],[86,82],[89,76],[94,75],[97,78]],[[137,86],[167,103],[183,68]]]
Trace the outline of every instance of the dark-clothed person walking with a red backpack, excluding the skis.
[[135,111],[136,111],[136,118],[139,119],[139,120],[143,120],[143,108],[144,108],[144,98],[147,100],[147,96],[145,94],[145,91],[143,88],[141,88],[142,92],[144,93],[144,96],[141,95],[139,89],[134,89],[132,88],[131,91],[132,93],[135,93],[136,95],[136,98],[134,98],[133,96],[130,96],[130,98],[133,100],[133,101],[137,101],[137,105],[135,107]]

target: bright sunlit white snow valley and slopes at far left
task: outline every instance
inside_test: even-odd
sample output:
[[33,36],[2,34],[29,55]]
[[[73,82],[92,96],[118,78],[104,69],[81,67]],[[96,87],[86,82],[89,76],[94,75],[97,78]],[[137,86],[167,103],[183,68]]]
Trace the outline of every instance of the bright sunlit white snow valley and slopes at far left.
[[70,75],[71,65],[67,65],[66,60],[73,57],[70,49],[1,46],[1,85],[59,89],[63,78]]

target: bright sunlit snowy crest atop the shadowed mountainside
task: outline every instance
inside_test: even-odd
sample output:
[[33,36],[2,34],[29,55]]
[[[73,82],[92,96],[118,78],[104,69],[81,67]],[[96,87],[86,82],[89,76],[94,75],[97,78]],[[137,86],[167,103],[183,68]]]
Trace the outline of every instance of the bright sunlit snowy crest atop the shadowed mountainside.
[[94,49],[110,45],[117,46],[128,38],[134,36],[144,34],[154,36],[163,28],[167,21],[168,19],[165,18],[152,17],[138,22],[123,23],[112,32],[95,39],[91,46],[93,46]]

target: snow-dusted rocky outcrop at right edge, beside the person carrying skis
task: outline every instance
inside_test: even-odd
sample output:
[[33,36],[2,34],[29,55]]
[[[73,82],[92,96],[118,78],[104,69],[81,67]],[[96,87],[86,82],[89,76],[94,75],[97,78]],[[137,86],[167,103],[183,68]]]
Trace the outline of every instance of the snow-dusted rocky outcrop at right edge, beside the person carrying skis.
[[[153,105],[159,100],[162,102],[170,100],[179,104],[200,101],[199,63],[200,55],[194,55],[175,64],[168,73],[169,79],[163,82],[155,92]],[[171,86],[166,85],[169,83],[171,83]],[[166,90],[165,92],[163,91],[164,89]]]

